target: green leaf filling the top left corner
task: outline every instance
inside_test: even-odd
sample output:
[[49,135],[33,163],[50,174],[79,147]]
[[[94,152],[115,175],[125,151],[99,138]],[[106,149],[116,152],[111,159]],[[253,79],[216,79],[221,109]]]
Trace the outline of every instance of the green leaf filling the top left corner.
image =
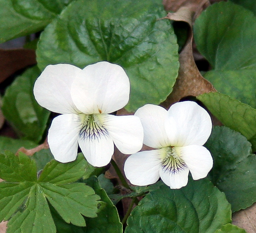
[[0,0],[0,43],[41,31],[71,0]]

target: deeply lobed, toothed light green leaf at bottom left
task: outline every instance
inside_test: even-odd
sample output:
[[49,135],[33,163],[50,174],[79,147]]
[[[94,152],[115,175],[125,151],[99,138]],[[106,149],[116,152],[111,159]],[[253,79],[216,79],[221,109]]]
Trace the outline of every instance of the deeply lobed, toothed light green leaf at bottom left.
[[0,154],[0,221],[8,220],[7,233],[55,233],[48,202],[67,222],[86,226],[83,216],[97,217],[102,202],[80,179],[87,162],[79,154],[70,163],[49,162],[37,179],[36,163],[27,155]]

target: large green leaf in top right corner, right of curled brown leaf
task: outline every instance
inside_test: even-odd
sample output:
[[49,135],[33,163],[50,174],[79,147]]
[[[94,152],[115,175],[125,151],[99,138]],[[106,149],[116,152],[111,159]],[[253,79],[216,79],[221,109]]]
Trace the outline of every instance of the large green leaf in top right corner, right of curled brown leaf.
[[223,1],[208,7],[194,25],[197,48],[213,67],[204,77],[218,92],[253,108],[256,108],[255,27],[256,17],[251,11]]

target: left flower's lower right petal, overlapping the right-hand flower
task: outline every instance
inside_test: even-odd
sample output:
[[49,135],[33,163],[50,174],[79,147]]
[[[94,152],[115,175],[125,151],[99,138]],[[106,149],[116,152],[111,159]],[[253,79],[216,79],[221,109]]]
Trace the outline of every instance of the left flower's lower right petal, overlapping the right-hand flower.
[[134,154],[141,150],[143,128],[138,117],[104,114],[103,124],[121,153]]

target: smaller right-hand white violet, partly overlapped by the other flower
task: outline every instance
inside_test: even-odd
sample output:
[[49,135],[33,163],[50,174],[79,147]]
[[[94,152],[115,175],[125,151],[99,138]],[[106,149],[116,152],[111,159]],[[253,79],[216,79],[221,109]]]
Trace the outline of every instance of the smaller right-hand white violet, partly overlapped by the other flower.
[[164,108],[146,104],[135,115],[141,119],[144,144],[157,150],[132,154],[125,162],[125,175],[134,185],[153,184],[161,177],[171,189],[186,186],[189,171],[194,180],[207,176],[213,166],[203,146],[212,131],[207,111],[192,101]]

